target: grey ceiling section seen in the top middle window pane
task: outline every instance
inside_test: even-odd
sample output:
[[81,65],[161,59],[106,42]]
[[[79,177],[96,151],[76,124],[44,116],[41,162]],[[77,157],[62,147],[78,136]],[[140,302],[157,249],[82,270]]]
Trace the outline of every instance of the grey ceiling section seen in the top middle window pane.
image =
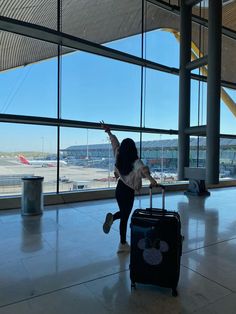
[[75,2],[62,1],[62,31],[67,34],[101,44],[141,33],[142,0]]

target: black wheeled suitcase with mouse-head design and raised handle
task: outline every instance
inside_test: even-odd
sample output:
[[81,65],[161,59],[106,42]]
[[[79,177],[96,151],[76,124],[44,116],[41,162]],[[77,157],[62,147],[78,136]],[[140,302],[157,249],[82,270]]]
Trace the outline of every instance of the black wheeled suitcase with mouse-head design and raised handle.
[[137,283],[154,284],[172,289],[177,296],[177,285],[182,255],[180,216],[165,210],[165,187],[162,188],[162,209],[136,209],[131,216],[130,279]]

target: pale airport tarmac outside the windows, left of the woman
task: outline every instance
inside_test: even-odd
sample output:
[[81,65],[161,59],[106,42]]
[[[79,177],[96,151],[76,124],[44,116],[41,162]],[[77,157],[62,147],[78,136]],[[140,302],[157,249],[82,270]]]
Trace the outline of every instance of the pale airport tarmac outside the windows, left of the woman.
[[[0,158],[0,195],[20,194],[21,178],[25,176],[44,177],[44,192],[56,192],[57,167],[42,167],[21,164],[16,158]],[[107,169],[65,165],[60,167],[60,191],[114,187],[113,172]],[[108,177],[111,177],[108,181]],[[9,179],[11,180],[9,184]]]

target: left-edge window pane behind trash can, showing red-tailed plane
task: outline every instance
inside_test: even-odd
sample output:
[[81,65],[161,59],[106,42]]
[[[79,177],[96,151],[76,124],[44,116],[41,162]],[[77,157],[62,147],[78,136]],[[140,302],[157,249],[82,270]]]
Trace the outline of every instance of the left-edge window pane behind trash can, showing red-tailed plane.
[[0,196],[21,193],[21,178],[43,176],[43,192],[56,192],[56,128],[0,123]]

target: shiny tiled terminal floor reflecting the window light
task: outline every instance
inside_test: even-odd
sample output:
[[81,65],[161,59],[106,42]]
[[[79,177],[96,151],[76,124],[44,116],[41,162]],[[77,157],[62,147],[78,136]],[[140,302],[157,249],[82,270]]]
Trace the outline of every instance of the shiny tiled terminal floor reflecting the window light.
[[49,206],[42,217],[1,211],[0,314],[236,313],[236,188],[167,193],[166,207],[179,211],[185,236],[177,298],[155,286],[131,291],[118,223],[102,232],[114,200]]

